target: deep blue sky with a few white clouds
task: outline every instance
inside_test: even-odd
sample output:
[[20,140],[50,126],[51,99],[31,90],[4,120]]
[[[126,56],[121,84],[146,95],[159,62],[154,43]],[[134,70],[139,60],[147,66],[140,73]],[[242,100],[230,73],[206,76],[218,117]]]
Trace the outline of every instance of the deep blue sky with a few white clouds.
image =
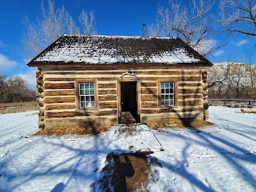
[[[26,58],[22,56],[22,18],[28,15],[36,24],[42,0],[1,0],[0,1],[0,74],[13,76],[21,74],[29,79],[35,70],[26,66]],[[184,1],[189,2],[189,1]],[[47,0],[45,0],[47,3]],[[55,7],[65,6],[73,19],[78,22],[81,10],[94,11],[96,29],[99,35],[142,35],[142,24],[149,26],[156,22],[157,6],[168,4],[168,0],[55,0]],[[218,13],[218,0],[212,10]],[[212,36],[212,40],[221,44],[225,42],[225,34]],[[243,56],[245,49],[255,49],[255,38],[230,36],[228,45],[214,52],[212,62],[237,60],[248,63]]]

